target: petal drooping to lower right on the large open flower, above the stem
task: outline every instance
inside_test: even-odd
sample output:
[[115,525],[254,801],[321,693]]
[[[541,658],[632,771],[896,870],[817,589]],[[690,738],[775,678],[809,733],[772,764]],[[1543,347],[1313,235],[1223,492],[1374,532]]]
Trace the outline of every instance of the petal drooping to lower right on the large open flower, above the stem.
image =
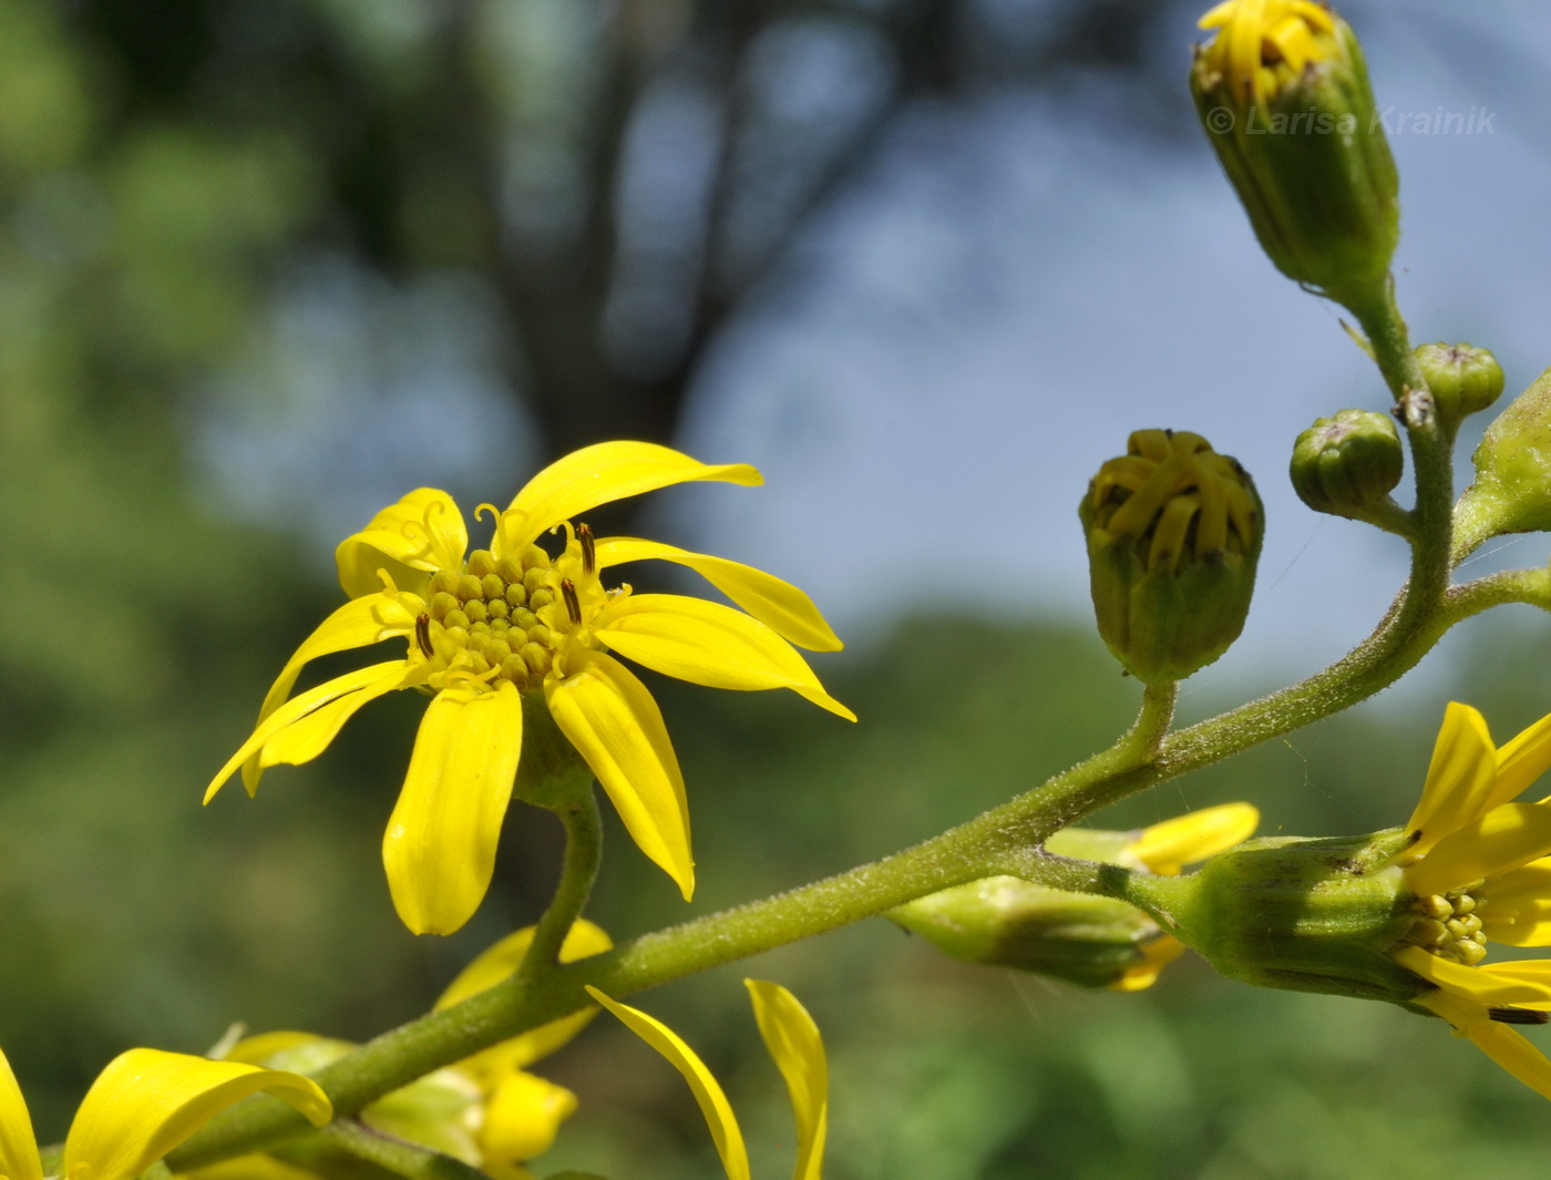
[[695,893],[689,800],[662,712],[634,673],[602,651],[544,684],[549,712],[608,792],[630,837],[678,884]]

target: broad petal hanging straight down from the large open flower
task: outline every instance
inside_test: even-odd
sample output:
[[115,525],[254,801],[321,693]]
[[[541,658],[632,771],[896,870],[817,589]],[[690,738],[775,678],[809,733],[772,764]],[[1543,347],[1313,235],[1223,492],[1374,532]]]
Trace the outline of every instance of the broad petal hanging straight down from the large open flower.
[[521,749],[510,681],[444,688],[425,710],[383,836],[388,888],[414,933],[451,933],[484,901]]

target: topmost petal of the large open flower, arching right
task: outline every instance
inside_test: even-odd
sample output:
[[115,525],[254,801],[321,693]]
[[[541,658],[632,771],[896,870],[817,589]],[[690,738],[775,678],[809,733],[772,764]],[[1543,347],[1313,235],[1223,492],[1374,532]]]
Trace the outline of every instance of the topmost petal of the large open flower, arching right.
[[763,476],[748,464],[710,465],[651,442],[599,442],[557,459],[516,493],[509,512],[523,515],[521,538],[532,541],[599,504],[639,496],[672,484],[713,479],[757,487]]

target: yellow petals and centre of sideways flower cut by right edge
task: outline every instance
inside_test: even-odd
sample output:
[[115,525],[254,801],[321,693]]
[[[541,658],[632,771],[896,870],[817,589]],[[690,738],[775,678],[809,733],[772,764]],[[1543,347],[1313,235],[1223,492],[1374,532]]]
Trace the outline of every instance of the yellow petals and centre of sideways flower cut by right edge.
[[1416,918],[1394,961],[1435,986],[1416,1003],[1551,1098],[1551,1062],[1509,1025],[1545,1023],[1551,960],[1477,966],[1486,943],[1551,946],[1551,800],[1515,803],[1551,766],[1551,716],[1498,749],[1450,704],[1396,857]]

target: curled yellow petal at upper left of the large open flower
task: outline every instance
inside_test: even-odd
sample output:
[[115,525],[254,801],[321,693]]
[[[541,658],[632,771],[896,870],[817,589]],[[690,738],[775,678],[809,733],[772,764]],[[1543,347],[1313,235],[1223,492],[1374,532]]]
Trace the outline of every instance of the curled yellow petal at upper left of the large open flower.
[[352,599],[383,588],[378,569],[386,569],[399,589],[416,575],[456,569],[468,549],[464,513],[445,492],[422,487],[372,516],[371,524],[340,541],[333,550],[340,586]]

